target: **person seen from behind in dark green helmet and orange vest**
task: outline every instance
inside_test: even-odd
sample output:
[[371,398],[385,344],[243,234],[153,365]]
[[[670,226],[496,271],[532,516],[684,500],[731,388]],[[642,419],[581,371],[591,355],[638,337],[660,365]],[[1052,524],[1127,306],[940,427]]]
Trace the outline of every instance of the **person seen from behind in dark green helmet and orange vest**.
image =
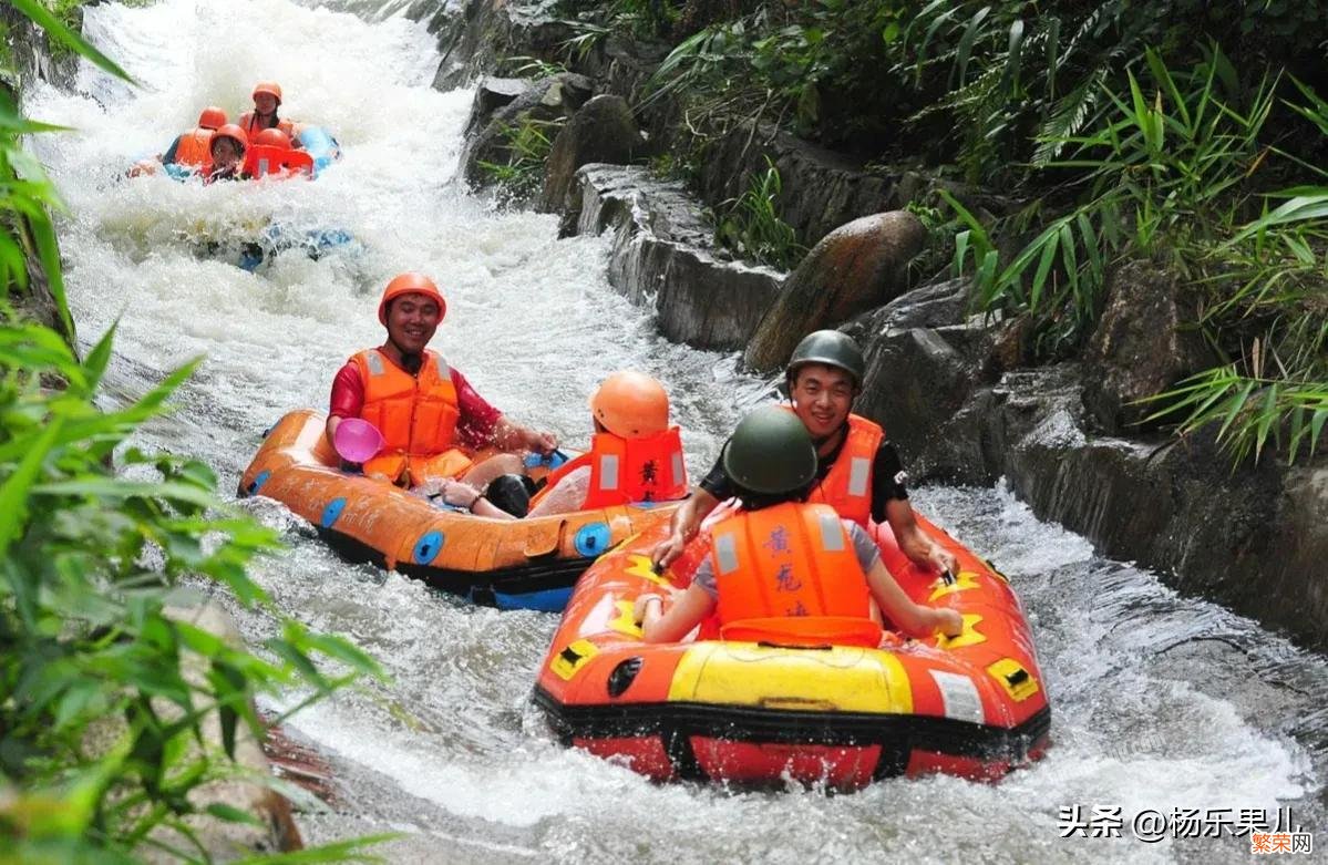
[[797,416],[756,409],[733,431],[720,462],[741,506],[710,526],[710,553],[668,611],[659,595],[637,598],[647,643],[677,642],[710,613],[722,639],[791,646],[875,647],[882,610],[914,636],[963,632],[955,610],[904,594],[863,526],[827,504],[803,501],[819,458]]

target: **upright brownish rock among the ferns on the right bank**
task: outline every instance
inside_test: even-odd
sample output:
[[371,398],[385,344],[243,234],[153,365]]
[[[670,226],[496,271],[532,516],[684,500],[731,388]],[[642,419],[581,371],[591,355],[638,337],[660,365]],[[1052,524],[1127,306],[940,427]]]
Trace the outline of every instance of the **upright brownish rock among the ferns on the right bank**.
[[1197,319],[1174,275],[1151,262],[1130,262],[1116,271],[1106,307],[1084,355],[1084,401],[1097,428],[1143,428],[1158,409],[1137,404],[1208,365]]

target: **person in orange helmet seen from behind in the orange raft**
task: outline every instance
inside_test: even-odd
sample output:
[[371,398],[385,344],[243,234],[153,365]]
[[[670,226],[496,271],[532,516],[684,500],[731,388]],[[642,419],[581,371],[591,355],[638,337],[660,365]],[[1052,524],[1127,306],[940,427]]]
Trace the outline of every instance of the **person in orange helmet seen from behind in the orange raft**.
[[687,496],[679,428],[664,385],[635,369],[604,379],[590,399],[590,450],[560,465],[530,502],[530,516],[560,514]]

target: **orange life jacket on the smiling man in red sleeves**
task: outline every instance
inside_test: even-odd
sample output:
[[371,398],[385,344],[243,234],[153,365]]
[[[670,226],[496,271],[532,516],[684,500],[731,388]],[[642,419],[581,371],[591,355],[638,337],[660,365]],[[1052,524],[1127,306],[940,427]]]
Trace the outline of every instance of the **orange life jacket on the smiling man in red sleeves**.
[[428,349],[422,360],[412,376],[376,348],[351,357],[364,383],[360,417],[382,433],[380,454],[429,457],[453,446],[461,409],[452,368],[442,355]]

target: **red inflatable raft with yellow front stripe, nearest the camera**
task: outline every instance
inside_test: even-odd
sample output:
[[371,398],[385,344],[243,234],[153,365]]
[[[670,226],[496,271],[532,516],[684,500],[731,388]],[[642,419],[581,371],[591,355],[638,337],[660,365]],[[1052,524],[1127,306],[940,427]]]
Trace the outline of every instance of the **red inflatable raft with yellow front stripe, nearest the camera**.
[[533,699],[564,744],[660,780],[855,789],[930,772],[1000,777],[1048,744],[1033,639],[1004,577],[919,524],[959,558],[952,582],[912,566],[888,528],[883,558],[912,598],[963,615],[956,638],[794,647],[720,640],[712,621],[680,643],[643,643],[637,595],[685,587],[705,554],[692,545],[691,566],[656,575],[649,550],[668,529],[655,526],[578,583]]

